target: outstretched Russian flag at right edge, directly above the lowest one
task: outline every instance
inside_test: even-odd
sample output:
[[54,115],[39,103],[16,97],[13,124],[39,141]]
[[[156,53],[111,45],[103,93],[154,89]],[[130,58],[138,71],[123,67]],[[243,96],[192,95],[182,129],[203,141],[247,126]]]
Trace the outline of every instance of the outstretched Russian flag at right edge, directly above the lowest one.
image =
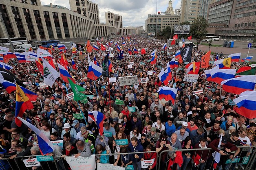
[[221,85],[226,92],[241,94],[247,90],[253,91],[255,82],[256,76],[249,75],[224,80],[221,82]]

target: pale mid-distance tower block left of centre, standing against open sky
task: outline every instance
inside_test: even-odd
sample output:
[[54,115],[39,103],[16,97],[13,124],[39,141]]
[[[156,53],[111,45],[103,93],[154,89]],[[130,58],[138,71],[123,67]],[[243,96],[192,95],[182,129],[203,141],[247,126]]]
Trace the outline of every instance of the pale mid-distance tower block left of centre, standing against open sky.
[[117,28],[123,27],[123,17],[121,15],[108,11],[105,13],[105,18],[106,24],[110,24],[111,26],[115,26]]

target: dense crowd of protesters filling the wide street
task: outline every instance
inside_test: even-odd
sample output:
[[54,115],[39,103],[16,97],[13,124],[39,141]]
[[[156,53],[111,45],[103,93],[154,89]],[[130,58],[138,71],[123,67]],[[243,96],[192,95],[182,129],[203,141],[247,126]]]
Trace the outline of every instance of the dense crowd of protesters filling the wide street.
[[[9,61],[13,66],[10,72],[22,82],[30,81],[31,86],[27,88],[38,95],[38,100],[32,102],[34,108],[25,111],[23,119],[36,126],[51,141],[63,140],[63,149],[55,146],[53,153],[49,154],[59,157],[58,169],[70,169],[64,159],[66,156],[74,155],[77,158],[95,154],[99,163],[123,167],[133,165],[135,170],[141,170],[141,161],[144,159],[154,159],[152,166],[145,169],[156,170],[157,153],[164,150],[170,151],[162,153],[159,158],[160,166],[164,169],[167,166],[177,170],[186,170],[188,167],[212,169],[214,152],[221,154],[219,170],[244,169],[243,157],[249,157],[253,149],[248,147],[247,150],[242,150],[237,146],[256,146],[256,119],[248,119],[236,113],[233,99],[238,96],[225,92],[214,82],[208,82],[203,69],[200,69],[196,83],[184,82],[185,64],[179,63],[178,68],[172,69],[173,80],[170,81],[170,87],[178,89],[174,104],[171,100],[160,100],[157,91],[164,85],[157,75],[161,68],[166,69],[166,63],[170,62],[179,47],[163,50],[163,43],[155,42],[148,37],[129,37],[113,39],[113,42],[120,45],[126,41],[126,45],[122,46],[124,59],[119,60],[114,44],[111,46],[113,51],[110,53],[113,53],[114,57],[110,57],[113,72],[109,72],[109,77],[115,77],[115,83],[109,83],[108,77],[103,76],[96,81],[87,78],[88,60],[72,54],[72,50],[67,50],[66,59],[71,61],[72,57],[78,68],[73,70],[70,62],[69,74],[77,85],[85,89],[84,94],[93,95],[85,104],[67,98],[66,94],[72,92],[72,89],[62,78],[58,78],[52,87],[40,88],[39,84],[43,82],[44,77],[34,62],[20,64],[16,59]],[[103,40],[101,43],[108,42]],[[146,54],[126,54],[128,48],[133,47],[138,50],[146,49]],[[155,49],[157,64],[151,65],[150,53]],[[86,56],[87,53],[84,50]],[[205,53],[193,49],[192,61],[200,61]],[[97,62],[102,65],[105,54],[104,51],[93,51],[90,57],[93,60],[96,56]],[[59,57],[60,51],[56,48],[53,51],[55,62],[60,60]],[[208,69],[213,67],[215,57],[216,54],[211,54]],[[130,62],[133,62],[132,68],[127,66]],[[241,68],[243,65],[245,63],[237,67],[232,63],[231,67]],[[57,70],[57,63],[55,66]],[[148,71],[153,71],[153,74],[149,75]],[[135,75],[138,77],[138,84],[120,85],[118,77]],[[147,83],[141,83],[141,78],[146,78]],[[203,90],[203,93],[193,95],[193,91],[196,90]],[[2,89],[0,136],[2,147],[7,153],[0,154],[0,159],[41,154],[38,136],[25,124],[22,123],[21,127],[15,124],[15,97],[15,92],[8,94]],[[117,105],[117,99],[123,100],[124,105]],[[130,107],[135,107],[135,111],[129,111]],[[104,113],[104,132],[111,132],[109,134],[112,136],[99,134],[98,126],[88,116],[88,111]],[[74,117],[81,112],[85,120]],[[128,144],[118,145],[115,141],[117,139],[127,139]],[[223,149],[218,149],[220,140]],[[194,148],[199,150],[191,150]],[[203,150],[204,148],[212,150]],[[184,150],[176,152],[177,149]],[[143,151],[144,154],[136,154]],[[237,163],[226,164],[228,159],[234,160],[237,157],[241,158]],[[170,161],[173,161],[173,165],[170,165]],[[41,162],[41,166],[47,164]],[[35,170],[42,167],[32,168]]]

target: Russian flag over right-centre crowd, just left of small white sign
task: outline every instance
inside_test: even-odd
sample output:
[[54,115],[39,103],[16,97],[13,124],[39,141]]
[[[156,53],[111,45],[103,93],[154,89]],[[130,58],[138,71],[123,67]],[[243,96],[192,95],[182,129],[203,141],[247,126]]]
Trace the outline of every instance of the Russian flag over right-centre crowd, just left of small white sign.
[[170,88],[170,87],[159,87],[157,93],[159,94],[159,99],[164,98],[165,100],[172,100],[172,104],[174,105],[174,101],[176,98],[178,89]]

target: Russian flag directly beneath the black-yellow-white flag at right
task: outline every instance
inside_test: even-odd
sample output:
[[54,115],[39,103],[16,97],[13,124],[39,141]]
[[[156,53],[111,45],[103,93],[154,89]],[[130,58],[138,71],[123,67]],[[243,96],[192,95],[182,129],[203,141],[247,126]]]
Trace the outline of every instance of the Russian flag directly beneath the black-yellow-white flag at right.
[[[212,81],[221,84],[222,81],[234,78],[236,69],[219,69],[218,65],[212,69],[211,77]],[[207,75],[206,75],[207,77]]]

